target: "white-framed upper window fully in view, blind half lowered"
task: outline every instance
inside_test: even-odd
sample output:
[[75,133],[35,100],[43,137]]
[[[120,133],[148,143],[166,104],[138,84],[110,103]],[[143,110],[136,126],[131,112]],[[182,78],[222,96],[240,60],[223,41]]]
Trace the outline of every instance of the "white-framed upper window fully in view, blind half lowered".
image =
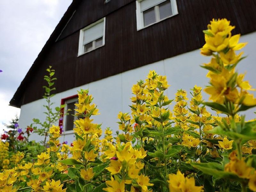
[[105,45],[105,17],[80,30],[78,56]]

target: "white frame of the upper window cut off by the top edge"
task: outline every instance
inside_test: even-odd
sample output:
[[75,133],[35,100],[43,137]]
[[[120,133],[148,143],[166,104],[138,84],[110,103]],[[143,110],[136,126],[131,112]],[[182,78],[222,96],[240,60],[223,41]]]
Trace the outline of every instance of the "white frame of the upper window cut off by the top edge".
[[[159,22],[161,22],[161,21],[163,21],[163,20],[166,20],[166,19],[168,19],[168,18],[170,18],[170,17],[173,17],[173,16],[179,14],[179,13],[178,13],[178,8],[177,8],[177,2],[176,2],[176,0],[166,0],[166,1],[170,1],[170,2],[171,2],[171,6],[172,6],[172,15],[170,15],[170,16],[168,16],[168,17],[165,17],[165,18],[163,18],[163,19],[160,19],[160,18],[159,18],[159,6],[158,6],[158,5],[161,4],[161,3],[163,3],[163,2],[165,2],[165,1],[160,1],[160,3],[158,3],[158,4],[154,5],[154,6],[148,7],[148,9],[154,7],[156,22],[151,23],[151,24],[149,24],[149,25],[147,25],[147,26],[144,26],[143,12],[141,11],[141,7],[140,7],[140,3],[141,3],[142,1],[146,1],[146,0],[137,0],[137,1],[136,1],[137,31],[139,31],[139,30],[141,30],[141,29],[144,29],[144,28],[147,28],[147,27],[149,27],[149,26],[151,26],[151,25],[154,25],[154,24],[156,24],[156,23],[159,23]],[[146,10],[148,10],[148,9],[146,9]],[[146,11],[146,10],[144,10],[144,11]],[[156,14],[156,13],[157,13],[157,14]]]

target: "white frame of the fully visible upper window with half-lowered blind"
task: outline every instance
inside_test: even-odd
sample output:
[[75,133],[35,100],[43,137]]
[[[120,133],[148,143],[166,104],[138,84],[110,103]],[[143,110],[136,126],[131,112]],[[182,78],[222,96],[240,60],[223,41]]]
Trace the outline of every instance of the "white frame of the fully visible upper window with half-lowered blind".
[[[98,23],[101,23],[103,21],[103,36],[98,37],[97,39],[102,37],[102,45],[100,45],[99,47],[96,46],[92,46],[92,50],[84,52],[84,31],[86,29],[92,28],[93,26],[97,25]],[[85,28],[80,29],[80,33],[79,33],[79,43],[78,43],[78,53],[77,53],[77,57],[84,55],[86,53],[92,52],[100,47],[103,47],[105,45],[105,31],[106,31],[106,17],[101,18],[100,20],[97,20],[96,22],[86,26]],[[96,44],[95,41],[97,39],[94,39],[92,42],[92,44]],[[89,43],[91,43],[89,42]],[[88,44],[89,44],[88,43]]]

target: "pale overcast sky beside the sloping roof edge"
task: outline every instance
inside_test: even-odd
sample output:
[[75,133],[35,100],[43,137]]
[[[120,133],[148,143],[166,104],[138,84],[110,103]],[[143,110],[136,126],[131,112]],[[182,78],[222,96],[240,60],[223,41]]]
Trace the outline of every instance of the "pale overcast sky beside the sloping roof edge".
[[20,115],[9,101],[71,2],[0,0],[0,133]]

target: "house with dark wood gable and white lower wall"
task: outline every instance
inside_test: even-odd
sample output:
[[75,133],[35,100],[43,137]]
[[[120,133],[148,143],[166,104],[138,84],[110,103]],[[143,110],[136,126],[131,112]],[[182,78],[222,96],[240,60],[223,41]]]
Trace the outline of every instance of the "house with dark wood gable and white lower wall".
[[[200,55],[199,48],[204,44],[202,30],[212,18],[231,20],[236,26],[233,34],[240,33],[240,41],[249,42],[244,48],[248,57],[238,68],[247,70],[246,79],[256,87],[255,10],[253,0],[74,0],[10,105],[21,108],[21,128],[33,118],[43,121],[42,86],[51,65],[57,77],[54,105],[62,102],[72,109],[77,90],[89,89],[100,109],[94,121],[115,132],[118,112],[130,112],[132,85],[145,79],[149,70],[167,76],[170,99],[180,88],[189,92],[195,84],[207,84],[206,70],[199,65],[210,59]],[[65,116],[60,122],[63,141],[74,139],[73,119]]]

